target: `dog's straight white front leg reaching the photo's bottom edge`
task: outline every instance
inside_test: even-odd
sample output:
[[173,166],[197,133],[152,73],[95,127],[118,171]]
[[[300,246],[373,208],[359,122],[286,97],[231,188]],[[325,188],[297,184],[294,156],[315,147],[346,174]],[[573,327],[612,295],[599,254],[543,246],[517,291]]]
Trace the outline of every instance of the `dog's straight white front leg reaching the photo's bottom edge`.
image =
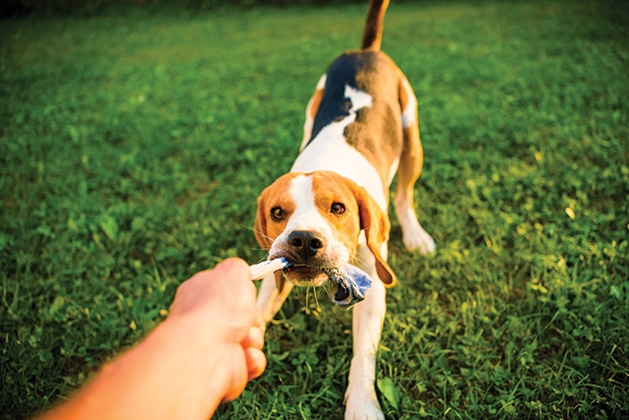
[[375,390],[376,352],[386,312],[386,291],[375,270],[365,300],[354,306],[354,356],[345,393],[345,420],[384,420]]

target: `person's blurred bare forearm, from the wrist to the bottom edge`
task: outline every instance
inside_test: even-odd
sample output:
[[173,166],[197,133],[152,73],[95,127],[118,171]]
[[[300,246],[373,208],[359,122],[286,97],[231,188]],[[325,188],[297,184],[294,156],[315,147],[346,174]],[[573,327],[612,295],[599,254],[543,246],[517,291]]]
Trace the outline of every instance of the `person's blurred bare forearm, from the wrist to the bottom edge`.
[[[43,419],[206,419],[228,372],[224,349],[195,335],[179,320],[165,321]],[[235,350],[232,357],[244,357]]]

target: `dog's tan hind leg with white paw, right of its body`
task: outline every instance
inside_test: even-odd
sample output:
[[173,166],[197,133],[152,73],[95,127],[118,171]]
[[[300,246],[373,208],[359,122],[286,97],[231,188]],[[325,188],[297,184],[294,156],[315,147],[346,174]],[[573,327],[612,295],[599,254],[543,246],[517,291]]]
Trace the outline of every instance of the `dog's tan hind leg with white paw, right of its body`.
[[395,211],[402,226],[406,248],[427,255],[434,252],[435,242],[417,221],[413,200],[415,182],[419,178],[424,163],[424,151],[419,139],[417,99],[403,75],[400,79],[400,106],[404,146],[397,171]]

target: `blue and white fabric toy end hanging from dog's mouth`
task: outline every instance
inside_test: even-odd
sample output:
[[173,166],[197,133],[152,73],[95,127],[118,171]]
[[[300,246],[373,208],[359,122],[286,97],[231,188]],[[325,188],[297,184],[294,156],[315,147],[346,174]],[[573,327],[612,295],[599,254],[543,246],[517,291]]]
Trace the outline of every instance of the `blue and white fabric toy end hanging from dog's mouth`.
[[365,293],[373,283],[367,273],[351,264],[325,271],[332,282],[330,299],[342,308],[351,308],[365,299]]

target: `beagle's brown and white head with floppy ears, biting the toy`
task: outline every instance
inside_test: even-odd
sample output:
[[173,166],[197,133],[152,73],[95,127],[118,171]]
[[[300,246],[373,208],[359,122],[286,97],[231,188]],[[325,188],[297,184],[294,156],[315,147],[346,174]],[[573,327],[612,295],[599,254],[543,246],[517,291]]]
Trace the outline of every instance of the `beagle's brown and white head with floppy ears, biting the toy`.
[[[291,268],[283,275],[297,285],[318,286],[325,270],[351,263],[361,230],[376,259],[378,277],[395,283],[382,258],[389,220],[364,188],[334,172],[289,173],[267,187],[258,199],[255,234],[269,259],[285,257]],[[278,289],[284,278],[276,273]]]

